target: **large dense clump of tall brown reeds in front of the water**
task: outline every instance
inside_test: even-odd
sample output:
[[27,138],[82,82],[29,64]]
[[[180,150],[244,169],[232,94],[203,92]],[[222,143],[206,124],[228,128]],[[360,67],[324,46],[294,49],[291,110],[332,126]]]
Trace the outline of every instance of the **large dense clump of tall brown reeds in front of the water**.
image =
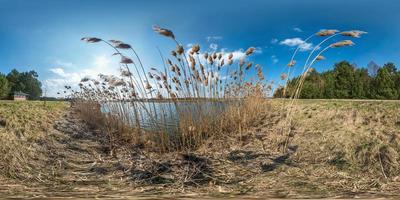
[[[249,105],[257,105],[271,90],[262,67],[250,62],[255,48],[234,60],[232,53],[201,51],[200,45],[185,49],[172,31],[158,26],[153,30],[176,44],[168,57],[159,51],[159,68],[147,69],[125,42],[82,38],[102,42],[120,57],[119,76],[85,77],[78,91],[66,86],[83,119],[108,133],[111,148],[128,142],[159,152],[192,150],[207,139],[240,133],[248,124],[243,117],[254,112]],[[257,77],[248,80],[251,70]],[[171,130],[166,116],[174,115],[178,124]]]

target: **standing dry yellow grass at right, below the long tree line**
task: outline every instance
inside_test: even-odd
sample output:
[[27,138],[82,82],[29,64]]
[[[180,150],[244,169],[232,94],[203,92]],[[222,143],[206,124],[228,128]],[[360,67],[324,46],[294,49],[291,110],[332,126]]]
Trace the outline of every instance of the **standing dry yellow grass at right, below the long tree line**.
[[305,104],[295,117],[300,135],[293,139],[301,148],[296,155],[300,161],[329,163],[386,179],[400,172],[399,102]]

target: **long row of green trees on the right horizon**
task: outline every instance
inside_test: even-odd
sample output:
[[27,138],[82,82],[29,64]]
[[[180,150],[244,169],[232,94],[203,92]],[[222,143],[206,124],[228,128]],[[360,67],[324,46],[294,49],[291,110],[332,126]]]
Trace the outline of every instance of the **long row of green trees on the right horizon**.
[[[284,87],[279,87],[274,97],[291,97],[299,80],[300,76],[290,79],[286,91]],[[336,63],[333,70],[322,73],[309,71],[299,98],[400,99],[400,71],[393,63],[379,67],[371,62],[367,69],[342,61]]]

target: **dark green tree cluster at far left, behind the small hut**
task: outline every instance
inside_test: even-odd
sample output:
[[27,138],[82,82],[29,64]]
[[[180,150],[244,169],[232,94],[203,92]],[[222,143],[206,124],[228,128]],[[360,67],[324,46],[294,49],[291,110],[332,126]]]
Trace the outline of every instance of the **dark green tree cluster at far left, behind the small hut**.
[[35,71],[19,72],[11,70],[7,75],[0,73],[0,99],[7,99],[13,92],[29,94],[29,99],[39,99],[42,83]]

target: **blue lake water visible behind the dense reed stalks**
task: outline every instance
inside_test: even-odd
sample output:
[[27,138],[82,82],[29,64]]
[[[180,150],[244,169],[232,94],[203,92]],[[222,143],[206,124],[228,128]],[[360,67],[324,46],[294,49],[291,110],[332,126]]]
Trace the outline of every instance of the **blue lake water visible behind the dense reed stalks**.
[[[102,112],[117,115],[132,126],[138,123],[147,130],[177,131],[180,119],[190,118],[195,123],[200,116],[218,117],[234,101],[182,102],[108,102]],[[138,118],[136,116],[139,116]]]

